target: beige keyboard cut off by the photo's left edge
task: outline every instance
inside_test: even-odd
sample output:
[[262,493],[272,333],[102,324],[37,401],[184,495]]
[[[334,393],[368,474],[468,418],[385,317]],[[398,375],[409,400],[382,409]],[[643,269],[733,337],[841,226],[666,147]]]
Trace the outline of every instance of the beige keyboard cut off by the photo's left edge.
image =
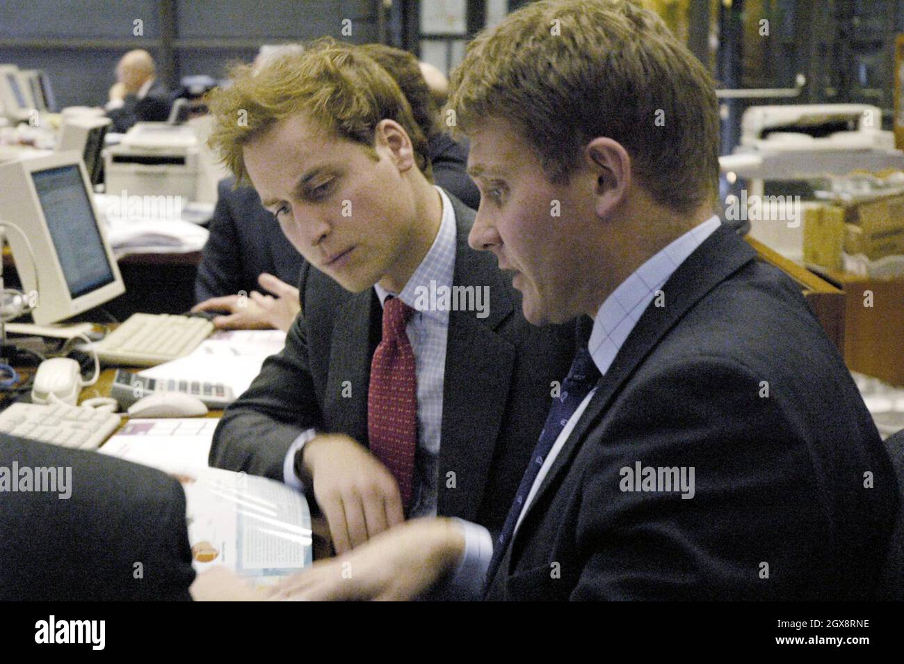
[[66,403],[13,403],[0,413],[0,432],[81,450],[94,450],[118,426],[118,415]]

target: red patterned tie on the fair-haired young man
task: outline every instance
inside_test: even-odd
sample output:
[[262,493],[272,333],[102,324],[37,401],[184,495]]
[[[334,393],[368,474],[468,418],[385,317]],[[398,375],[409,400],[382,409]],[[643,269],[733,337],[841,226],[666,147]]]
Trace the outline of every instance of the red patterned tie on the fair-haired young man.
[[405,327],[414,309],[398,298],[383,303],[383,338],[371,360],[367,435],[371,451],[399,482],[402,503],[411,500],[418,443],[418,384],[414,351]]

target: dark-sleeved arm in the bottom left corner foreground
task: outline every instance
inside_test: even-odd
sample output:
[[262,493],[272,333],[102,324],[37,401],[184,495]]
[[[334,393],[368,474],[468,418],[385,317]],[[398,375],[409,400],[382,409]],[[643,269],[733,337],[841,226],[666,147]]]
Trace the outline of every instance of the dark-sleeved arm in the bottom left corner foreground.
[[[71,497],[0,494],[0,600],[191,599],[185,495],[175,479],[0,434],[0,466],[12,469],[14,461],[70,467]],[[144,578],[135,578],[137,569]]]

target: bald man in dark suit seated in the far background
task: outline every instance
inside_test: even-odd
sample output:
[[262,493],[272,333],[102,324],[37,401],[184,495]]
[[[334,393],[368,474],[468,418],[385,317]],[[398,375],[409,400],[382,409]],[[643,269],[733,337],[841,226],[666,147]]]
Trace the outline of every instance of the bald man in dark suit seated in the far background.
[[136,122],[163,122],[169,118],[173,100],[165,85],[155,78],[154,59],[149,52],[127,52],[117,64],[116,76],[107,104],[113,131],[125,133]]

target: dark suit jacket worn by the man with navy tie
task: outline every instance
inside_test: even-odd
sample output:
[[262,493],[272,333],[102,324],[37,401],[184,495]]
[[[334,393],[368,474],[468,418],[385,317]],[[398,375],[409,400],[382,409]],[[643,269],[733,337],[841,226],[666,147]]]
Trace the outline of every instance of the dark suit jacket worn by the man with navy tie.
[[[600,379],[488,599],[872,596],[895,477],[800,289],[755,256],[720,228],[674,272],[665,306],[647,308]],[[694,497],[621,490],[636,461],[693,467]]]

